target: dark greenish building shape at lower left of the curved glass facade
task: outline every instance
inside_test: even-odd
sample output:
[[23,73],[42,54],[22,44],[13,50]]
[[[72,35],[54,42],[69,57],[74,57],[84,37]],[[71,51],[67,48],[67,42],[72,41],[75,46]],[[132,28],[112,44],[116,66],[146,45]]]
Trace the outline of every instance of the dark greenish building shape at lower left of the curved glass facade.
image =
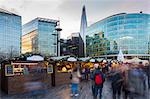
[[87,57],[94,57],[107,54],[107,50],[110,50],[110,42],[104,37],[104,32],[94,34],[92,37],[86,37],[87,45]]

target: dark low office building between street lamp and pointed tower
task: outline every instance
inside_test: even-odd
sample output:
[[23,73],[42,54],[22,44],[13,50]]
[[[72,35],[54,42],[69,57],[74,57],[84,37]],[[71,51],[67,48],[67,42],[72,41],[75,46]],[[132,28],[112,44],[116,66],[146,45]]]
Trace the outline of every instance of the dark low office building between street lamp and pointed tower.
[[61,56],[74,55],[76,57],[83,57],[83,40],[80,33],[72,33],[67,39],[61,39]]

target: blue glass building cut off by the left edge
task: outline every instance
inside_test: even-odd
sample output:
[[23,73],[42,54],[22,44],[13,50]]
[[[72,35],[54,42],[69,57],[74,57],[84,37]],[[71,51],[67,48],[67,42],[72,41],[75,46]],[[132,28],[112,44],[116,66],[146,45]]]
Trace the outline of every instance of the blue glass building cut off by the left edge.
[[0,56],[19,56],[21,35],[21,16],[0,9]]

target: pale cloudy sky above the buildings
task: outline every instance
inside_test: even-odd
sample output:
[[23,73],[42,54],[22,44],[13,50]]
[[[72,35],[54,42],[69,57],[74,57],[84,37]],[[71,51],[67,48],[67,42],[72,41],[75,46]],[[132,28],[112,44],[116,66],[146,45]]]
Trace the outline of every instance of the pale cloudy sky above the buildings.
[[150,0],[0,0],[0,8],[22,16],[22,24],[36,17],[60,20],[61,38],[79,32],[82,6],[88,26],[117,13],[150,14]]

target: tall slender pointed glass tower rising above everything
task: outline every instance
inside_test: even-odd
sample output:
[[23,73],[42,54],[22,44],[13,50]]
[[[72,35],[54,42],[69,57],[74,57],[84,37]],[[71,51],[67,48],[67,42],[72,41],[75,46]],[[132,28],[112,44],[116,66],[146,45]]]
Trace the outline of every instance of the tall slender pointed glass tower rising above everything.
[[81,35],[81,38],[84,42],[84,54],[86,53],[85,52],[85,47],[86,47],[86,28],[87,28],[87,19],[86,19],[86,9],[85,9],[85,5],[83,6],[83,9],[82,9],[82,16],[81,16],[81,25],[80,25],[80,35]]

